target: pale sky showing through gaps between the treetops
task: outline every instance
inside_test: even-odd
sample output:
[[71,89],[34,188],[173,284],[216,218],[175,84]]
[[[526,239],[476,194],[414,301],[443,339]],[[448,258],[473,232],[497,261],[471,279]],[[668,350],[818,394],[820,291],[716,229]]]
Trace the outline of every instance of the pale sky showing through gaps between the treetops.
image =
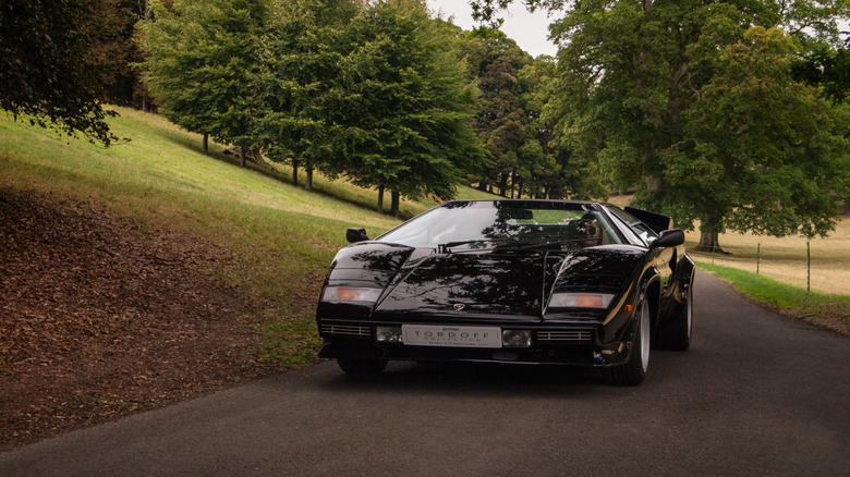
[[[514,0],[507,12],[501,12],[505,19],[501,30],[517,41],[523,50],[532,57],[539,54],[555,56],[558,49],[546,37],[549,35],[551,19],[546,12],[529,13],[520,0]],[[472,20],[472,8],[469,0],[428,0],[428,7],[435,12],[440,12],[444,19],[454,16],[454,24],[463,29],[472,29],[478,26]]]

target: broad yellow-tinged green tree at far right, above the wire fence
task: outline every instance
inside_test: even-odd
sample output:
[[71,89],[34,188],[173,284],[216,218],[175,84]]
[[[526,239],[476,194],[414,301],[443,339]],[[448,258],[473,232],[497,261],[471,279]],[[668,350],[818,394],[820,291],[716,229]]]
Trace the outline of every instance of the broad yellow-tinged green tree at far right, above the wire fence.
[[685,139],[663,152],[664,200],[702,219],[699,246],[726,228],[826,235],[850,188],[850,123],[790,72],[793,40],[753,27],[724,50],[685,113]]

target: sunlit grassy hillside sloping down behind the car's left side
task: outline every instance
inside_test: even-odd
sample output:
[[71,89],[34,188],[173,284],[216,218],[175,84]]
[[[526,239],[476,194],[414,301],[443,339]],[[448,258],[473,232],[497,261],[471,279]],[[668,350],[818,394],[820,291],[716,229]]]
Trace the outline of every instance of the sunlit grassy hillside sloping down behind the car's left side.
[[[205,155],[199,136],[163,118],[118,110],[113,132],[130,140],[110,148],[0,118],[0,184],[95,200],[151,228],[167,224],[240,249],[244,269],[231,271],[232,281],[247,293],[283,295],[281,304],[317,290],[304,281],[284,291],[280,280],[324,273],[348,227],[374,236],[400,222],[369,210],[375,191],[318,176],[316,192],[307,193],[288,182],[286,167],[236,168],[220,145]],[[482,193],[463,188],[461,196]],[[403,201],[401,211],[411,217],[435,204]]]

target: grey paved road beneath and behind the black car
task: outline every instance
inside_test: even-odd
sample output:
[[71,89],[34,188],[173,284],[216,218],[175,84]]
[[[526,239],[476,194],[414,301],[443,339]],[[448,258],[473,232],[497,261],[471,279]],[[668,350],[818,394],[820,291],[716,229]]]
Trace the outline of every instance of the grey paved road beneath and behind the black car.
[[695,341],[617,388],[327,363],[0,454],[0,475],[850,475],[850,340],[701,273]]

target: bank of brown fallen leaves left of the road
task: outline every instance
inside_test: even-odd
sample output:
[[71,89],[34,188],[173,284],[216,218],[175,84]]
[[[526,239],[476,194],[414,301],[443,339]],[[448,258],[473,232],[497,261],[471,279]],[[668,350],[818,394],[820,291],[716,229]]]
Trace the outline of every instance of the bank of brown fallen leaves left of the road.
[[246,317],[272,310],[217,279],[233,259],[0,188],[0,451],[283,369],[246,352],[263,346]]

